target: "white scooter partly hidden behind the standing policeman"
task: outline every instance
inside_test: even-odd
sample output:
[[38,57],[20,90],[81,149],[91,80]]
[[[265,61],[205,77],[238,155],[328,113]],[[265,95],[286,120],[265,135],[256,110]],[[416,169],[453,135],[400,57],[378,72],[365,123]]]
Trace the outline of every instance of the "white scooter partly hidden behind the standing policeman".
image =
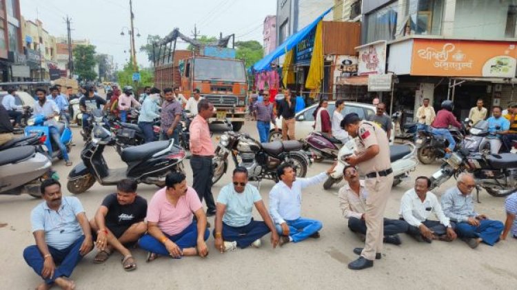
[[[352,139],[348,141],[338,152],[338,165],[334,169],[334,173],[323,183],[323,189],[330,189],[332,185],[343,182],[343,169],[348,165],[345,158],[354,154],[356,141]],[[418,160],[416,160],[416,147],[413,143],[405,143],[403,145],[390,145],[390,160],[392,161],[392,169],[394,174],[393,186],[400,184],[409,176],[409,172],[416,169]]]

